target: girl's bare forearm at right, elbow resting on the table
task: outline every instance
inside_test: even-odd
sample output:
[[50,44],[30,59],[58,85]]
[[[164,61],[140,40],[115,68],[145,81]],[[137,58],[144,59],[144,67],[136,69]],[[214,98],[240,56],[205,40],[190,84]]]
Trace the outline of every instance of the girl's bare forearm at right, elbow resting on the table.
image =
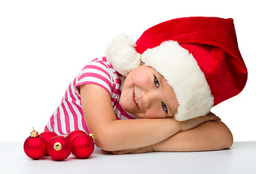
[[154,144],[155,152],[194,152],[228,149],[233,144],[230,130],[221,121],[208,121],[191,130]]

